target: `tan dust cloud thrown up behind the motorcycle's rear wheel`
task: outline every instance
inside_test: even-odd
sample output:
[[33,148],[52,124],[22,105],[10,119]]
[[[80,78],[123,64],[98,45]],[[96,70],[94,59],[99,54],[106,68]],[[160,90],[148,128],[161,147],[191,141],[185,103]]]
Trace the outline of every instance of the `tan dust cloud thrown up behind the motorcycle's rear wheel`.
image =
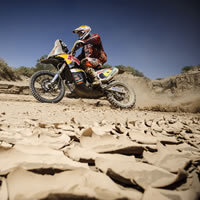
[[200,93],[196,89],[171,93],[157,93],[152,89],[152,81],[147,78],[121,75],[119,79],[132,87],[136,94],[136,108],[161,112],[200,112]]

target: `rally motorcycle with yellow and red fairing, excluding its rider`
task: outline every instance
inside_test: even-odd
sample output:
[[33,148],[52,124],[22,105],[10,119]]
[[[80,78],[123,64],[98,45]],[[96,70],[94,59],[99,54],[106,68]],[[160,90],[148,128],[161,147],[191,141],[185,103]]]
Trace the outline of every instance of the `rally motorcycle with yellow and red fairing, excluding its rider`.
[[30,80],[32,95],[40,102],[57,103],[64,97],[67,86],[76,97],[106,97],[115,107],[133,107],[136,102],[133,88],[113,79],[118,74],[118,68],[98,69],[96,73],[101,84],[97,87],[92,85],[92,78],[85,73],[75,57],[79,44],[77,40],[69,52],[63,41],[55,41],[48,57],[41,60],[41,63],[52,64],[56,72],[41,70],[34,73]]

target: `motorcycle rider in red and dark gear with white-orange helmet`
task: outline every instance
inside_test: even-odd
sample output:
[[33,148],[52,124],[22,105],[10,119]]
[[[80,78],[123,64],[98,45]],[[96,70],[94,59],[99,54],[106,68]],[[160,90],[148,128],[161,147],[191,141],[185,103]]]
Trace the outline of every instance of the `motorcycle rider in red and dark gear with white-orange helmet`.
[[81,65],[85,72],[93,79],[93,85],[100,84],[95,69],[100,68],[106,61],[107,55],[103,49],[99,34],[91,34],[91,28],[82,25],[73,30],[79,36],[79,44],[77,49],[82,48],[81,54],[77,57],[81,61]]

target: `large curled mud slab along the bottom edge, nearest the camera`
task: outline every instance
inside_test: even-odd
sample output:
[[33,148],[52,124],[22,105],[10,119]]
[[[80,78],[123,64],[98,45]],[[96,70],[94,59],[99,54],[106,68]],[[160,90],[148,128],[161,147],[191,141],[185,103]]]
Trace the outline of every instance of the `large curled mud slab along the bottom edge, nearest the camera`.
[[142,193],[119,187],[105,174],[88,169],[76,169],[51,176],[18,168],[8,175],[7,180],[10,200],[44,199],[59,194],[63,195],[63,199],[79,197],[138,200],[142,197]]

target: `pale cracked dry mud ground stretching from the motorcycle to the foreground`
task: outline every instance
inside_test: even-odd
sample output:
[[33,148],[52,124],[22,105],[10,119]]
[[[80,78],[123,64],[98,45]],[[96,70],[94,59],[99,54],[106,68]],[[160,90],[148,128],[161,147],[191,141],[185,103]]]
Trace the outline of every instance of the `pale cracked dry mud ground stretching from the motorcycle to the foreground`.
[[0,94],[0,200],[199,198],[199,114]]

